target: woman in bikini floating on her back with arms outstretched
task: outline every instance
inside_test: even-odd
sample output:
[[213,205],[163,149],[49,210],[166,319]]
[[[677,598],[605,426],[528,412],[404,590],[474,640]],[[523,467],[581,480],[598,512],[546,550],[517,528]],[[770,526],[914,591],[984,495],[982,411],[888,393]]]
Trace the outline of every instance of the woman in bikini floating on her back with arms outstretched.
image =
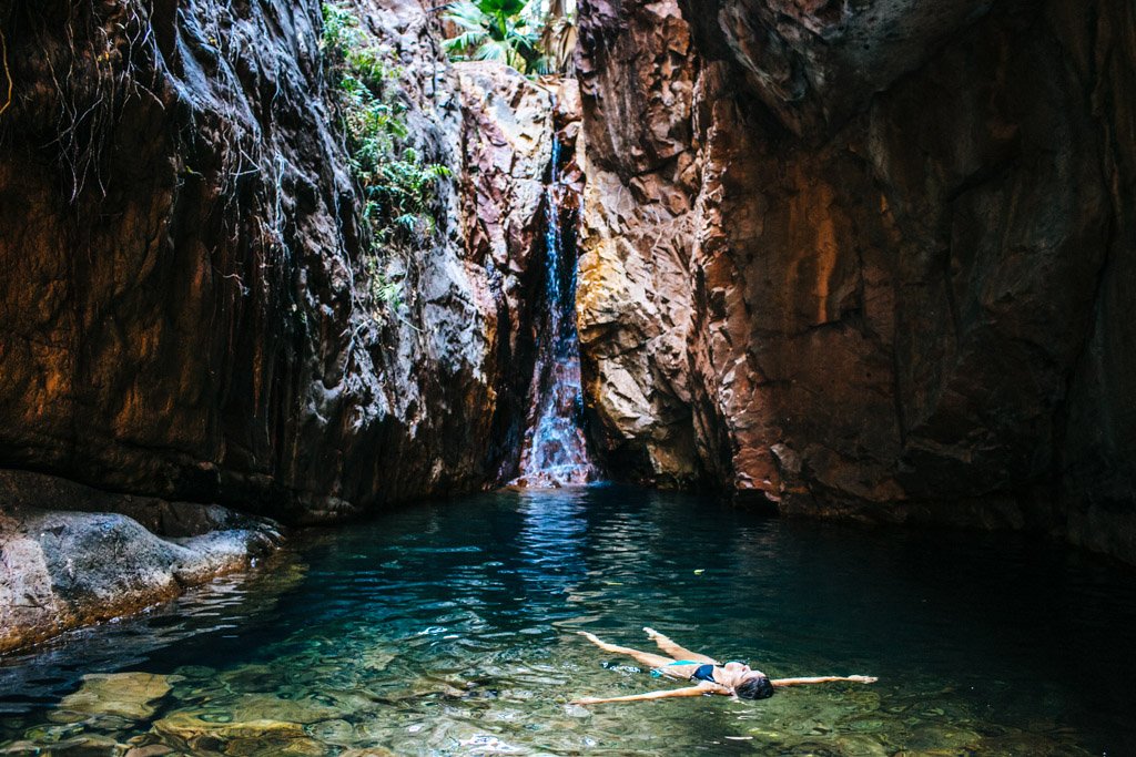
[[608,644],[587,631],[580,631],[579,634],[604,651],[630,655],[644,665],[649,665],[652,668],[652,675],[692,681],[694,685],[686,687],[685,689],[633,693],[628,697],[611,697],[609,699],[587,697],[577,699],[571,704],[599,705],[604,701],[642,701],[644,699],[666,699],[668,697],[701,697],[707,693],[720,693],[727,697],[736,696],[742,699],[768,699],[774,696],[777,689],[787,685],[829,683],[832,681],[875,683],[878,680],[869,675],[822,675],[809,679],[774,679],[770,681],[769,676],[765,673],[752,670],[749,665],[743,663],[726,663],[722,665],[705,655],[679,647],[653,629],[644,628],[643,630],[646,631],[648,638],[653,639],[659,645],[659,648],[670,656],[663,657],[650,651],[640,651],[630,647],[619,647]]

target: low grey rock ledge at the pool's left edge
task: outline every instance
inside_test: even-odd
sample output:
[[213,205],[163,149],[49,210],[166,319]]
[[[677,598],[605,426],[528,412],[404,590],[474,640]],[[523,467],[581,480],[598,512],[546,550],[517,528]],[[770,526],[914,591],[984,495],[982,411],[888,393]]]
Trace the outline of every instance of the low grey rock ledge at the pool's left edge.
[[283,542],[275,521],[0,471],[0,654],[167,602]]

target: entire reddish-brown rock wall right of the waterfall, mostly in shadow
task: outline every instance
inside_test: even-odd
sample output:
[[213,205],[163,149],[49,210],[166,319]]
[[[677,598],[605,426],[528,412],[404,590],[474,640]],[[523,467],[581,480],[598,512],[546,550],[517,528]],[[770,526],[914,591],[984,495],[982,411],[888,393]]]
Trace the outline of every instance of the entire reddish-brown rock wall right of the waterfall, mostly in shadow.
[[1133,12],[584,3],[579,318],[626,470],[1136,558]]

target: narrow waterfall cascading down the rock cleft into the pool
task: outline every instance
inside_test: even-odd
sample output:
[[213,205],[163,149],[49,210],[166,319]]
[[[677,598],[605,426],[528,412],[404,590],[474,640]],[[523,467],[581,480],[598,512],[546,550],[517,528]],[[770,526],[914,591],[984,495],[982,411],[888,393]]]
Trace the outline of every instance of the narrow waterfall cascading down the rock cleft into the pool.
[[545,313],[537,331],[527,430],[515,483],[556,487],[586,483],[596,476],[584,438],[584,392],[576,334],[576,242],[560,224],[560,142],[552,142],[545,190]]

